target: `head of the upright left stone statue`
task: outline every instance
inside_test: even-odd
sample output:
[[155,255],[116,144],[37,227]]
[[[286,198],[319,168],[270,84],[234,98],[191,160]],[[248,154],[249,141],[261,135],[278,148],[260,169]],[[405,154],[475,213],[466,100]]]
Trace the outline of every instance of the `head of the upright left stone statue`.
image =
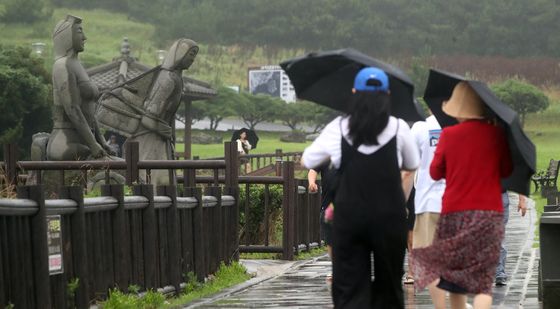
[[82,19],[67,15],[59,21],[53,31],[54,57],[71,55],[84,51],[86,36],[82,29]]

